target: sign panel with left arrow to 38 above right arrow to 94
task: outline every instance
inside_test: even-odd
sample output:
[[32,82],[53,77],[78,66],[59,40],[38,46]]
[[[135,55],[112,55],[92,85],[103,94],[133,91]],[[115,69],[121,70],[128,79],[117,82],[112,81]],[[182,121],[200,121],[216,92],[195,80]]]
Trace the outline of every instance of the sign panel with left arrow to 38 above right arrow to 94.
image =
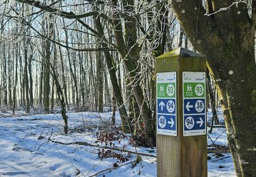
[[205,135],[205,72],[182,72],[182,85],[183,135]]

